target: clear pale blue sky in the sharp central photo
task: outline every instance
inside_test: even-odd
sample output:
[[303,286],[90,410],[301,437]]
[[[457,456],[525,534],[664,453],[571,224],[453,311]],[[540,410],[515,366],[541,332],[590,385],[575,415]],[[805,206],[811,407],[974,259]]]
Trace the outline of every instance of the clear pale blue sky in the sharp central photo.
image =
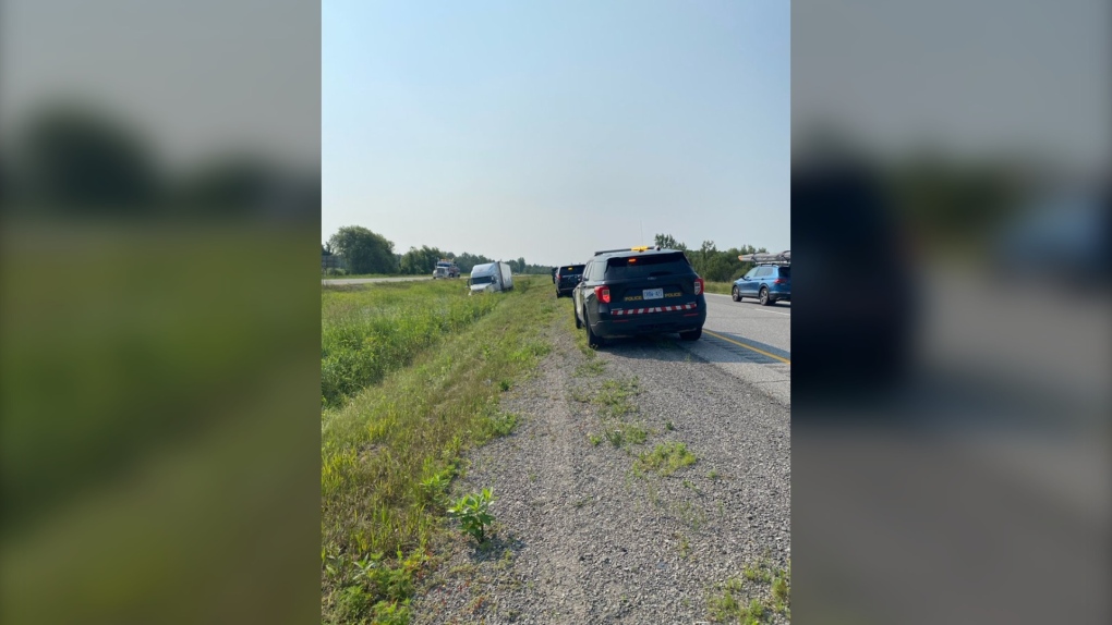
[[322,3],[321,236],[529,263],[791,248],[791,6]]

